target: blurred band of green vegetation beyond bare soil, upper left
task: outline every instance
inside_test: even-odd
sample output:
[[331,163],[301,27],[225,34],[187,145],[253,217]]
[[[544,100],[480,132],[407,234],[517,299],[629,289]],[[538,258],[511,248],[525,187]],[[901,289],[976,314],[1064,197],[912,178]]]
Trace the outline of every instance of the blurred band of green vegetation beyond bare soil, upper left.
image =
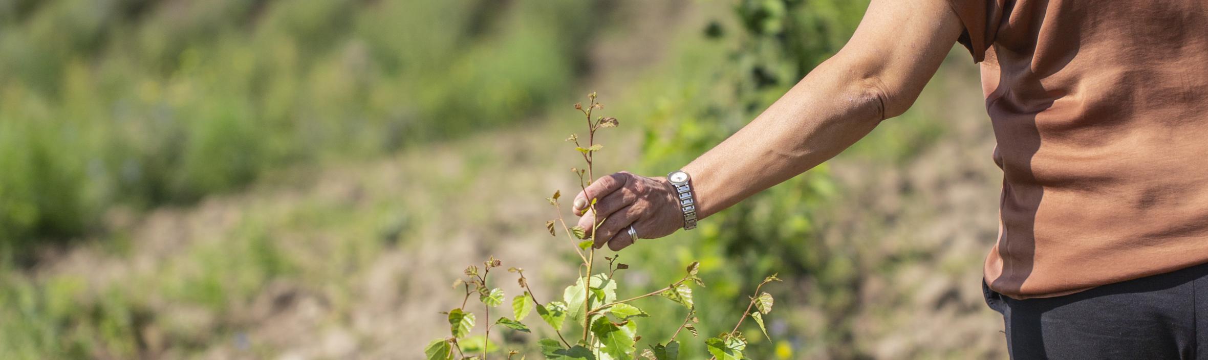
[[[582,1],[0,2],[0,254],[564,100]],[[480,116],[490,109],[492,116]]]

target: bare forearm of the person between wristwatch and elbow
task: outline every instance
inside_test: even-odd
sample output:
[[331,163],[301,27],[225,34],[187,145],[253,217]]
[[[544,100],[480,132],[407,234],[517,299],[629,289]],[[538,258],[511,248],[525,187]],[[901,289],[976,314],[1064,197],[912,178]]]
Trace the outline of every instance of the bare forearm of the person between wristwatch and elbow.
[[885,117],[875,74],[831,59],[684,170],[703,219],[780,184],[866,135]]

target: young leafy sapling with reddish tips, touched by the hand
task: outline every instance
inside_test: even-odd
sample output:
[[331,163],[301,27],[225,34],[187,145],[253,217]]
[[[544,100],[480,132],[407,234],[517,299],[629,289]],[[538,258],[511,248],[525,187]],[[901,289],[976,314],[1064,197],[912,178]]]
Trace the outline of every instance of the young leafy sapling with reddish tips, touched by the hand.
[[[592,161],[596,152],[604,147],[596,143],[596,132],[618,124],[614,117],[600,116],[593,120],[592,112],[603,109],[604,105],[596,101],[596,93],[591,93],[588,99],[590,101],[586,106],[575,104],[575,109],[582,112],[587,120],[586,144],[581,143],[581,139],[576,134],[567,138],[568,143],[575,144],[575,150],[582,155],[586,163],[585,169],[571,169],[579,176],[580,190],[586,190],[587,185],[596,179],[592,170]],[[556,191],[552,197],[546,198],[557,210],[558,217],[547,221],[545,227],[554,237],[558,236],[557,228],[561,227],[562,232],[574,244],[575,254],[582,261],[575,284],[567,286],[561,300],[542,303],[534,295],[533,289],[529,288],[529,280],[524,277],[524,269],[510,267],[507,272],[517,274],[517,284],[523,294],[512,298],[512,318],[499,317],[494,321],[490,321],[492,308],[503,304],[505,295],[503,289],[490,286],[489,274],[492,269],[501,267],[503,262],[492,256],[482,263],[481,268],[478,266],[466,267],[464,272],[465,278],[459,278],[453,283],[453,288],[461,288],[465,291],[461,306],[442,313],[448,318],[451,336],[432,341],[424,349],[428,360],[486,360],[488,355],[499,352],[500,348],[490,341],[490,330],[495,326],[501,326],[511,331],[532,332],[533,330],[521,321],[528,318],[534,309],[538,317],[545,320],[553,330],[553,337],[538,341],[538,346],[545,359],[632,360],[635,356],[649,360],[679,359],[680,344],[676,337],[680,332],[687,330],[693,337],[698,335],[696,326],[699,319],[696,317],[696,306],[692,302],[692,284],[704,286],[704,281],[697,277],[699,263],[692,262],[689,265],[683,277],[662,289],[617,300],[617,280],[614,275],[618,271],[629,268],[629,266],[617,262],[618,256],[605,256],[604,260],[608,261],[608,266],[605,271],[597,273],[597,268],[594,268],[596,249],[592,248],[596,234],[594,228],[588,234],[587,230],[580,226],[568,227],[567,221],[562,216],[559,198],[561,191]],[[594,213],[594,198],[591,199],[588,207]],[[593,226],[598,228],[603,221],[604,219],[597,219]],[[771,294],[761,292],[761,289],[767,283],[779,280],[774,274],[763,279],[755,288],[755,294],[750,297],[747,310],[738,319],[738,324],[734,325],[733,330],[704,341],[705,348],[713,355],[710,359],[745,359],[743,350],[747,348],[747,338],[739,332],[739,326],[742,326],[743,320],[748,317],[755,319],[760,331],[765,336],[767,335],[767,330],[763,326],[763,315],[772,310],[773,298]],[[477,295],[478,302],[482,303],[482,323],[486,324],[481,336],[470,335],[470,331],[478,320],[475,313],[471,312],[471,308],[467,307],[470,297],[475,295]],[[687,317],[684,318],[669,339],[639,352],[635,344],[641,339],[641,336],[638,332],[637,320],[639,318],[649,318],[650,314],[633,306],[632,302],[654,296],[661,296],[683,304],[689,309]],[[567,319],[570,319],[573,324],[577,324],[582,331],[567,331],[568,333],[563,333],[564,330],[568,330],[564,326]],[[509,349],[505,354],[505,359],[507,360],[527,359],[527,355],[513,349]]]

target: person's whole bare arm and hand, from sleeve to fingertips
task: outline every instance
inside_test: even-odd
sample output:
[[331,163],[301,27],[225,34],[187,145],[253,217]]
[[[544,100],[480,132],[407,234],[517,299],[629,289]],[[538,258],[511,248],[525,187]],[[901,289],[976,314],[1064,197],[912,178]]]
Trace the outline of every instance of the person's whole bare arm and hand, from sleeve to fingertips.
[[[901,115],[963,31],[945,0],[873,0],[843,48],[811,71],[755,120],[683,168],[692,176],[697,217],[705,219],[751,194],[835,157],[882,120]],[[668,169],[668,172],[675,169]],[[597,198],[596,211],[586,211]],[[603,176],[575,197],[579,225],[605,219],[596,248],[621,250],[633,239],[683,228],[675,191],[666,178],[628,172]]]

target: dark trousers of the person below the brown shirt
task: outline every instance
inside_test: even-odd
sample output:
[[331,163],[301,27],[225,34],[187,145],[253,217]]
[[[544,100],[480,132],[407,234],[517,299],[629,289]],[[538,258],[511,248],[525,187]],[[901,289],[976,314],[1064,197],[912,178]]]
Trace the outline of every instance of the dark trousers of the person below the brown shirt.
[[1208,265],[1049,298],[982,290],[1015,360],[1208,360]]

